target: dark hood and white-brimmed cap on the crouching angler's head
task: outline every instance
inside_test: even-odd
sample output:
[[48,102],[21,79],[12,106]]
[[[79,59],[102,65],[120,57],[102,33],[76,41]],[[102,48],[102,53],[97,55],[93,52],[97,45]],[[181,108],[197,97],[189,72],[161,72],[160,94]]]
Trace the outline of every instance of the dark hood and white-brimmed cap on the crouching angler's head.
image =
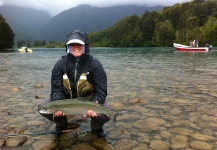
[[67,34],[66,36],[66,51],[67,51],[67,44],[70,44],[70,41],[80,41],[84,43],[85,46],[85,54],[89,54],[89,40],[88,36],[84,31],[81,30],[74,30]]

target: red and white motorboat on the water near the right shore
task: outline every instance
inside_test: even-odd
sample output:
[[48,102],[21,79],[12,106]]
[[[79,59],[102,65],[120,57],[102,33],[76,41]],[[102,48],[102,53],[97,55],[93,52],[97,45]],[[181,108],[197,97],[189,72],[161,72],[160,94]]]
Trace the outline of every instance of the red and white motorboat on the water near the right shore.
[[173,43],[173,46],[180,52],[208,52],[211,50],[211,47],[192,47],[177,43]]

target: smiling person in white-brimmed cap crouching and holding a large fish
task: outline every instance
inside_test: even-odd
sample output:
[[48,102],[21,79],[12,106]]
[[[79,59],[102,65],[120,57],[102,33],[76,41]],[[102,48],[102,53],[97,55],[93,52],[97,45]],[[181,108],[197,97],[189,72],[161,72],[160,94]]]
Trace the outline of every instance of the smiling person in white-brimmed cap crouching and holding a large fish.
[[[42,103],[83,98],[106,105],[107,75],[101,62],[89,54],[87,34],[80,30],[68,33],[65,46],[67,55],[59,59],[52,70],[50,99]],[[104,138],[103,125],[110,118],[105,114],[97,115],[93,110],[88,110],[85,116],[91,118],[91,133]],[[44,117],[56,123],[57,131],[67,129],[64,112]]]

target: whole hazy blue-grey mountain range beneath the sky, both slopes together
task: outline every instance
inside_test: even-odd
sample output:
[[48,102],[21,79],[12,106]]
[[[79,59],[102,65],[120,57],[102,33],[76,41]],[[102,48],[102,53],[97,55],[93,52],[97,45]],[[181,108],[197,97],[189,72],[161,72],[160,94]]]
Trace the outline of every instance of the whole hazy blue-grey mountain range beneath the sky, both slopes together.
[[120,19],[146,11],[159,11],[162,6],[142,7],[135,5],[106,8],[79,5],[51,17],[47,12],[9,5],[0,6],[0,14],[16,34],[16,41],[65,41],[68,32],[75,29],[87,33],[111,27]]

